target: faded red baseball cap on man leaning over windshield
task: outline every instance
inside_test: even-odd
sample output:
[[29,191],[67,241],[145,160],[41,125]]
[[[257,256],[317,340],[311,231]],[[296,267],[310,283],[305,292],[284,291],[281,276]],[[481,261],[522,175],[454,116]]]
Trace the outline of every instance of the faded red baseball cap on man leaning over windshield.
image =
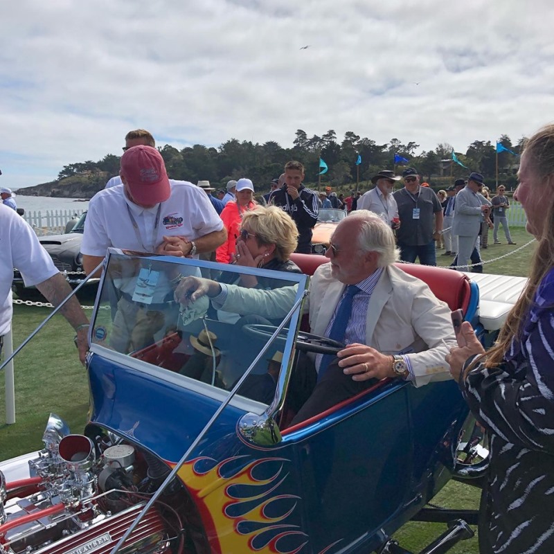
[[121,157],[120,172],[139,204],[158,204],[171,195],[166,164],[152,146],[141,144],[126,150]]

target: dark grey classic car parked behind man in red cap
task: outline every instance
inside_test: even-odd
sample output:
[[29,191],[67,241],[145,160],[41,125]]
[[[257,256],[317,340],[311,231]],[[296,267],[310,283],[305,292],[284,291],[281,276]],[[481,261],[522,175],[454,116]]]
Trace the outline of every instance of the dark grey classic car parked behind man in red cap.
[[[72,287],[76,287],[84,279],[82,272],[81,242],[84,231],[84,220],[87,218],[85,211],[79,217],[69,233],[63,235],[44,235],[39,237],[39,242],[50,254],[55,267],[59,269]],[[91,285],[98,283],[98,280],[91,281]],[[17,269],[14,269],[12,289],[21,298],[30,298],[39,293],[35,287],[26,287],[23,278]]]

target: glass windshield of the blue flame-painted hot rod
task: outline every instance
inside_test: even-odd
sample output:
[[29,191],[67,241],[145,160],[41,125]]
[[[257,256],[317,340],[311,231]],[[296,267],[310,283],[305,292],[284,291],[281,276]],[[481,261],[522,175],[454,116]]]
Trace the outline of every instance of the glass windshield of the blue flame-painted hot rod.
[[[93,314],[91,340],[98,346],[93,352],[117,352],[132,364],[139,360],[163,368],[182,377],[188,388],[194,384],[207,393],[230,391],[307,286],[302,274],[244,267],[240,271],[256,276],[256,284],[252,286],[251,278],[249,286],[243,283],[233,265],[111,250]],[[221,295],[193,302],[183,294],[183,303],[175,301],[178,287],[190,283],[215,283],[217,289],[225,289],[224,305],[216,303]],[[299,311],[298,305],[284,333],[247,377],[241,395],[271,402],[280,369],[289,364]]]

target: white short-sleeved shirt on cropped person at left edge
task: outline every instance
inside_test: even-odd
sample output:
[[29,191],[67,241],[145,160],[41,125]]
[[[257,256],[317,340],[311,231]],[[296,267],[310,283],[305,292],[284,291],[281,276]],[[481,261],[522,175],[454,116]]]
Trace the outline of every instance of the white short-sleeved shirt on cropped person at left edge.
[[0,336],[11,326],[14,267],[21,271],[28,287],[57,274],[35,231],[12,208],[0,204]]

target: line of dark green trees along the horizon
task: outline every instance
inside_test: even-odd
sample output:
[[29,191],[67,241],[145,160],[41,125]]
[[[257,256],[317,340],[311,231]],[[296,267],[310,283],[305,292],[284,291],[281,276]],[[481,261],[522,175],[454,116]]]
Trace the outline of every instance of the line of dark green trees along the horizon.
[[[501,135],[498,142],[519,154],[524,139],[514,145],[509,136]],[[455,152],[457,159],[467,168],[452,161],[453,148],[449,143],[440,143],[435,150],[424,150],[417,154],[419,148],[420,145],[415,142],[404,144],[399,139],[377,144],[372,139],[361,138],[351,131],[346,132],[342,141],[339,141],[332,129],[322,136],[314,135],[311,138],[303,129],[298,129],[292,148],[282,148],[275,141],[260,144],[240,142],[238,139],[230,139],[219,148],[201,144],[182,150],[169,144],[158,147],[171,179],[193,183],[208,180],[216,186],[223,186],[229,179],[249,177],[258,190],[269,188],[271,179],[278,177],[283,172],[285,163],[291,159],[304,164],[307,183],[317,182],[320,157],[328,166],[328,172],[321,175],[321,182],[335,187],[356,182],[357,175],[360,181],[367,181],[381,169],[395,167],[397,171],[402,171],[402,166],[394,166],[395,155],[407,159],[408,162],[403,165],[417,168],[420,175],[431,184],[434,178],[449,176],[451,173],[454,178],[465,177],[471,171],[480,172],[488,179],[494,179],[496,175],[496,144],[490,141],[474,141],[465,152]],[[356,162],[360,159],[361,163],[358,165]],[[498,154],[499,175],[508,186],[517,182],[515,168],[518,160],[510,152]],[[57,179],[73,175],[93,175],[96,172],[117,175],[119,163],[120,157],[114,154],[107,154],[96,162],[71,163],[64,166]]]

